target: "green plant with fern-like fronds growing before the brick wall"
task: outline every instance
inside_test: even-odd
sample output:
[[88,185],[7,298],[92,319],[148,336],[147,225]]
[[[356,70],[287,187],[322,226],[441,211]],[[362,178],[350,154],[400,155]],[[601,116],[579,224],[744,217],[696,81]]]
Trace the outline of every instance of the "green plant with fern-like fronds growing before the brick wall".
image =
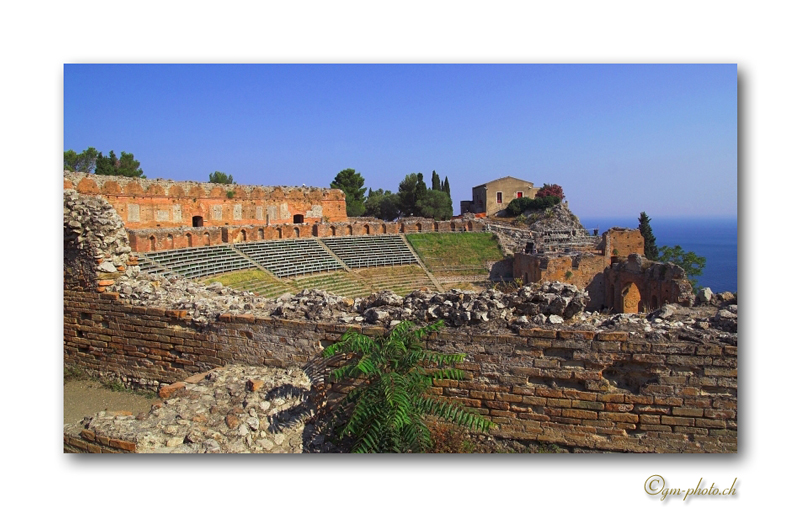
[[453,400],[430,393],[434,379],[463,379],[455,365],[461,353],[428,351],[422,338],[438,331],[437,321],[414,329],[404,321],[385,337],[370,338],[350,330],[323,351],[347,361],[331,372],[333,382],[355,380],[354,388],[334,409],[332,428],[353,440],[356,453],[420,453],[433,445],[428,417],[470,430],[486,431],[494,423]]

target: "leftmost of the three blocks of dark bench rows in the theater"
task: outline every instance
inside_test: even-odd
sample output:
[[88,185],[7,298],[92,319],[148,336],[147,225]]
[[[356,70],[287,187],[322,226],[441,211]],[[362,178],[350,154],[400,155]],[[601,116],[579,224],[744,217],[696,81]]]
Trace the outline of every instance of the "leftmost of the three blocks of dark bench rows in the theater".
[[[180,274],[187,278],[211,276],[223,272],[254,268],[254,264],[230,246],[215,245],[207,247],[190,247],[170,251],[144,253],[144,263],[148,263],[145,272],[171,276]],[[160,270],[159,270],[160,269]]]

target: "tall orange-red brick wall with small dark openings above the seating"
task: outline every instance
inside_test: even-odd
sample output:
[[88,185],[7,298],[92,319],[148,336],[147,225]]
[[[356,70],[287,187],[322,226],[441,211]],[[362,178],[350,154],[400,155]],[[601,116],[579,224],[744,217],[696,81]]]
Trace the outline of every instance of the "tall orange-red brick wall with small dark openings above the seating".
[[[316,187],[219,185],[64,171],[64,189],[103,196],[125,226],[138,228],[347,220],[344,192]],[[229,192],[231,192],[229,194]]]

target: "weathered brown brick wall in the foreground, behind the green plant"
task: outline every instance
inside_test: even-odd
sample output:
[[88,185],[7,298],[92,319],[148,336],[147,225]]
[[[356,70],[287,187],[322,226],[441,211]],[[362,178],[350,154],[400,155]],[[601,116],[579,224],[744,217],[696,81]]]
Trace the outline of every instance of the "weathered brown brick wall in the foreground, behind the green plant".
[[[304,366],[347,329],[230,314],[196,328],[185,312],[64,292],[65,364],[128,383],[173,382],[233,362]],[[608,451],[736,451],[736,346],[544,329],[448,329],[428,346],[467,353],[467,379],[437,381],[435,391],[490,417],[498,436]]]

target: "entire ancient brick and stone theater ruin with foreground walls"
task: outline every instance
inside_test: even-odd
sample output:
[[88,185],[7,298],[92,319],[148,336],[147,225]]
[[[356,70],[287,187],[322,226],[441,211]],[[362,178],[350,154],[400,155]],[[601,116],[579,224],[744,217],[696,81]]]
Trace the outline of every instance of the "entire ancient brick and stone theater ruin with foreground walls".
[[[682,271],[639,256],[638,231],[347,218],[322,188],[69,172],[64,187],[65,367],[161,397],[65,425],[67,451],[332,451],[318,416],[341,393],[320,351],[404,320],[445,321],[426,345],[465,353],[465,379],[433,392],[490,418],[493,439],[737,450],[736,296],[691,306]],[[484,279],[521,285],[443,288],[410,244],[487,232],[513,258]]]

